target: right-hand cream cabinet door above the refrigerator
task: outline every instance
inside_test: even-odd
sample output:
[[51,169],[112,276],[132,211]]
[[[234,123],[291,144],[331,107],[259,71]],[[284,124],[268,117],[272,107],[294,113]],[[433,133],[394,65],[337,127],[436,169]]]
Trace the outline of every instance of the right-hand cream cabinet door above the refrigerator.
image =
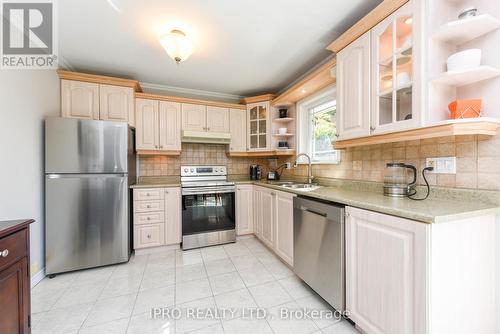
[[99,85],[100,119],[135,125],[134,90],[128,87]]

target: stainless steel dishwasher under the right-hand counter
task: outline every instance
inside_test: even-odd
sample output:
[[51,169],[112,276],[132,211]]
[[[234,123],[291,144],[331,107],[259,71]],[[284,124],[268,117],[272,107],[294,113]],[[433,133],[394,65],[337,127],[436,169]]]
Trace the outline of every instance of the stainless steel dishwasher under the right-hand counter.
[[337,311],[345,310],[344,206],[293,199],[295,273]]

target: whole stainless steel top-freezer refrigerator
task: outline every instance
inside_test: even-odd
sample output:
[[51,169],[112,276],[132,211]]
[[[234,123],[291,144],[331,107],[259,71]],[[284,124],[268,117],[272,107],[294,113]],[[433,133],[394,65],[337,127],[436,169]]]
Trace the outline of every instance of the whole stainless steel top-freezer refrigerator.
[[45,270],[128,261],[134,130],[126,123],[45,120]]

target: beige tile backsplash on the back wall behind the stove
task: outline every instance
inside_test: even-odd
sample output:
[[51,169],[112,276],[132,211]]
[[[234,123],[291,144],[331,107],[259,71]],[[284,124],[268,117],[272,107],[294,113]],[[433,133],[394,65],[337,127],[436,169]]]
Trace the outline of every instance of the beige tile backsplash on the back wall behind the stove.
[[180,156],[141,156],[139,176],[180,175],[183,165],[224,165],[229,174],[248,174],[251,164],[261,165],[263,175],[268,169],[268,160],[259,158],[229,158],[227,145],[182,144]]

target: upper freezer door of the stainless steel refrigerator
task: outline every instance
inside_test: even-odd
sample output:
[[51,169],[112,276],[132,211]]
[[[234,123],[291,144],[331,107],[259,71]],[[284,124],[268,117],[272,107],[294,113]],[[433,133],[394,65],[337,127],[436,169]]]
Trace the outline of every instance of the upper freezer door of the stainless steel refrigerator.
[[122,122],[47,118],[45,172],[127,173],[128,132]]

